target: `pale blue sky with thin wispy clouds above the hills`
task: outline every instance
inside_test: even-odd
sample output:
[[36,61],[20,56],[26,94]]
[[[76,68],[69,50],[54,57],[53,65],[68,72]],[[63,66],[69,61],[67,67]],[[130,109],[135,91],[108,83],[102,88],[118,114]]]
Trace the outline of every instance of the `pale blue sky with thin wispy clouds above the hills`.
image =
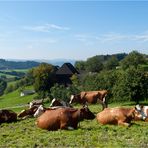
[[148,54],[148,1],[2,1],[0,58]]

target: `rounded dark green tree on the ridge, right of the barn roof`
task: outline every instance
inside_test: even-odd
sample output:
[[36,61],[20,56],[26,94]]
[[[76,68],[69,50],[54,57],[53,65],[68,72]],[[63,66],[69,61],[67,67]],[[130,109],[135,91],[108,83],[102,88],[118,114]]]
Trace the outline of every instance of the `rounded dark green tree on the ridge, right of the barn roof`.
[[99,56],[88,58],[86,61],[86,70],[89,72],[100,72],[103,69],[103,64]]

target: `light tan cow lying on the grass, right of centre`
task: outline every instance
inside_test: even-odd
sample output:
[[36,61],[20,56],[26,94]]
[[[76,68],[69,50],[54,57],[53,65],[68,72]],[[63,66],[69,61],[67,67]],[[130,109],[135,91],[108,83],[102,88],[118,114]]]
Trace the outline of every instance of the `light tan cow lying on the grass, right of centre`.
[[135,108],[106,108],[97,114],[97,121],[101,124],[130,126],[134,119]]

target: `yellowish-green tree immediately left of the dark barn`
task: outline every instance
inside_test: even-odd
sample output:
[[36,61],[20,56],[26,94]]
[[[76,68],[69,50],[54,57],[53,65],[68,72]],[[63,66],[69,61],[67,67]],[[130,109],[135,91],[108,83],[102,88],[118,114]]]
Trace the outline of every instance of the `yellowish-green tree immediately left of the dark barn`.
[[55,82],[55,67],[42,63],[33,69],[35,91],[44,99]]

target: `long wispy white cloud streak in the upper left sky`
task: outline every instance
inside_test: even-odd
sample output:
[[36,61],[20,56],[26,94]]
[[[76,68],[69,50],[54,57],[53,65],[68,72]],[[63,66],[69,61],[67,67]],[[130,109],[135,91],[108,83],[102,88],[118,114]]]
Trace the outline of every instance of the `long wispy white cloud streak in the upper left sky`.
[[70,28],[68,27],[63,27],[55,24],[45,24],[42,26],[24,26],[23,29],[36,32],[50,32],[51,30],[61,30],[61,31],[70,30]]

